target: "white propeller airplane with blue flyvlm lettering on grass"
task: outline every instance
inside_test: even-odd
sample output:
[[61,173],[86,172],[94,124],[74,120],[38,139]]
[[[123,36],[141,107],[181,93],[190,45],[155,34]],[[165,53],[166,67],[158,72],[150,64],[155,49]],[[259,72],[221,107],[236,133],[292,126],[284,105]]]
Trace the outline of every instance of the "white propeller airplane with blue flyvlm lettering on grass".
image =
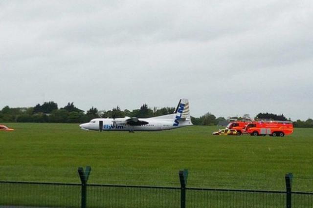
[[[102,122],[102,124],[101,124]],[[189,102],[187,98],[181,98],[173,114],[140,119],[137,117],[125,117],[116,119],[92,119],[89,123],[81,124],[83,130],[104,131],[160,131],[192,125]]]

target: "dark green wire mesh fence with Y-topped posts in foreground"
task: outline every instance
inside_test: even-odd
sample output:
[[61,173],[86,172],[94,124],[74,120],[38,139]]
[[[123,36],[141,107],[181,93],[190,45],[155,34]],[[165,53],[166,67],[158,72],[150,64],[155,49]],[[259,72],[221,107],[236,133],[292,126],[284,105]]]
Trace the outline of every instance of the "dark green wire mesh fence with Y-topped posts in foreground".
[[91,168],[79,168],[81,183],[0,181],[0,206],[67,208],[312,208],[313,192],[187,187],[187,170],[179,171],[180,187],[88,184]]

